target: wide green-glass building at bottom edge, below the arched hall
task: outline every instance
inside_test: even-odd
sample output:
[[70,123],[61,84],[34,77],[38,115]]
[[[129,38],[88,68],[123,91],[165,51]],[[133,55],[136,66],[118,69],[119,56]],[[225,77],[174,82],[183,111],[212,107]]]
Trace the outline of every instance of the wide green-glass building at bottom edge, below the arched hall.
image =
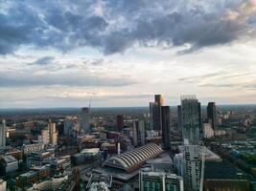
[[175,174],[160,172],[141,172],[139,177],[140,191],[183,191],[183,179]]

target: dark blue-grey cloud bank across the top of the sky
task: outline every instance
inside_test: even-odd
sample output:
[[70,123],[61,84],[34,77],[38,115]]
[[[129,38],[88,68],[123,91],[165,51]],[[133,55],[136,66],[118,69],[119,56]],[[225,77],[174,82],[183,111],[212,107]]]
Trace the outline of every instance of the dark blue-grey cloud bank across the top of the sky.
[[[253,0],[28,0],[2,4],[1,54],[13,53],[21,45],[63,52],[90,46],[104,53],[122,53],[134,44],[189,45],[181,53],[190,53],[254,37],[255,29]],[[97,12],[99,6],[102,11]]]

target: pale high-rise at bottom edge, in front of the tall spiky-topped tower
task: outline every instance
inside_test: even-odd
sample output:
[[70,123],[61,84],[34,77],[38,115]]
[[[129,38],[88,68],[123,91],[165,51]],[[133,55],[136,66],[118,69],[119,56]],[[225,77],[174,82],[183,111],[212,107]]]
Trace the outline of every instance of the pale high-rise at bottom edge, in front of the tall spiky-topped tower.
[[184,146],[184,161],[185,161],[185,190],[186,191],[201,191],[203,183],[203,149],[200,145]]

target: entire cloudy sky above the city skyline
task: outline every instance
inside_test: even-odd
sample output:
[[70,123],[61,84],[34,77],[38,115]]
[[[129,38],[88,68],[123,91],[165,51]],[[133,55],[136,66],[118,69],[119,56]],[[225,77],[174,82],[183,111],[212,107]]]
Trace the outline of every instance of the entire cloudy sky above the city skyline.
[[256,103],[256,0],[0,1],[0,108]]

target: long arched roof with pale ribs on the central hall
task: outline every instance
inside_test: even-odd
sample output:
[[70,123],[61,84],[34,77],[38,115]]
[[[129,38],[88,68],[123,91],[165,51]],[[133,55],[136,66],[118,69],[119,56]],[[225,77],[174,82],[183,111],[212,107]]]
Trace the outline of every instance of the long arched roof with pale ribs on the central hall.
[[123,153],[119,156],[114,156],[105,161],[105,166],[111,166],[116,168],[121,168],[128,170],[128,168],[133,167],[137,164],[140,164],[147,159],[151,159],[160,155],[163,152],[161,147],[154,143],[150,143],[126,153]]

